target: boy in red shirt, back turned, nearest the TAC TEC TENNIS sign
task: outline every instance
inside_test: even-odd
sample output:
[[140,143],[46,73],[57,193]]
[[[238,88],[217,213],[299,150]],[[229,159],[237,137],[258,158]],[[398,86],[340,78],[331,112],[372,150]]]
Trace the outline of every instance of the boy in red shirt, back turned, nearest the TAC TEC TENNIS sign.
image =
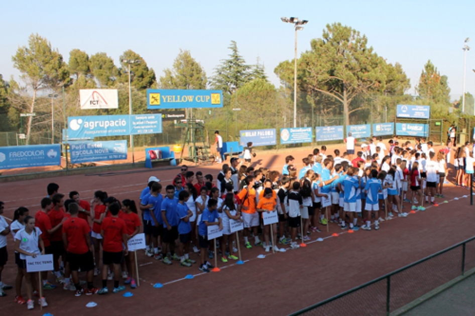
[[87,289],[86,295],[95,294],[99,289],[92,285],[94,258],[92,257],[91,228],[89,224],[78,217],[79,206],[76,203],[69,204],[71,217],[63,223],[63,243],[68,251],[68,262],[71,270],[73,284],[76,288],[76,296],[84,293],[79,285],[78,270],[86,271]]

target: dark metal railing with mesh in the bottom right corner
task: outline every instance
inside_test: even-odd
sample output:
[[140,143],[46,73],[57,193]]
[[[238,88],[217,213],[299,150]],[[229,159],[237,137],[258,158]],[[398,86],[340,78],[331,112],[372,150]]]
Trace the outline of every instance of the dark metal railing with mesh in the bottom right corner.
[[291,315],[389,315],[475,267],[475,237]]

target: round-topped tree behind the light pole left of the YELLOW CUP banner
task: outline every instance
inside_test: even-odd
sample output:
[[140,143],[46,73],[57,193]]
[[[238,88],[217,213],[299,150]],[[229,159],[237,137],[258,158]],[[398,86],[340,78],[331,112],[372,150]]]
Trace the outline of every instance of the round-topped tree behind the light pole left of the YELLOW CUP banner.
[[134,52],[133,50],[127,50],[124,54],[121,55],[121,78],[120,82],[128,82],[129,81],[129,64],[123,63],[122,60],[140,60],[140,63],[133,63],[131,64],[131,72],[133,74],[131,78],[131,85],[136,87],[137,89],[147,89],[152,87],[152,85],[156,82],[155,71],[147,66],[145,59],[142,58],[139,54]]

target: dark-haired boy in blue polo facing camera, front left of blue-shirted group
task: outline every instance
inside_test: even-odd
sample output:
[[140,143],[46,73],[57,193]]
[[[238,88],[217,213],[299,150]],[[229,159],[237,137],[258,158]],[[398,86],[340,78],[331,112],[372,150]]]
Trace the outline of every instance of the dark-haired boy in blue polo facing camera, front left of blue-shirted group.
[[[162,202],[162,219],[163,219],[163,244],[162,244],[162,262],[172,264],[172,260],[180,260],[175,253],[175,240],[178,238],[178,199],[175,199],[175,187],[168,185],[166,187],[167,197]],[[167,246],[169,253],[165,253]],[[170,258],[169,258],[170,257]]]

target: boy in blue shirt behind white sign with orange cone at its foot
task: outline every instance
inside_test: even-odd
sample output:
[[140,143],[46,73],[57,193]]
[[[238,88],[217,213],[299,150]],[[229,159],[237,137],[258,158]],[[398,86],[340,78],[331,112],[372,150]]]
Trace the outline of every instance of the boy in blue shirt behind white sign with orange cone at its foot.
[[[219,225],[219,229],[222,230],[222,222],[219,217],[218,211],[218,202],[213,199],[208,200],[208,206],[203,210],[201,214],[201,220],[198,224],[198,239],[199,247],[201,251],[201,265],[199,266],[200,271],[209,272],[209,269],[213,268],[211,263],[207,261],[206,255],[208,253],[208,226]],[[216,219],[218,220],[216,222]]]

